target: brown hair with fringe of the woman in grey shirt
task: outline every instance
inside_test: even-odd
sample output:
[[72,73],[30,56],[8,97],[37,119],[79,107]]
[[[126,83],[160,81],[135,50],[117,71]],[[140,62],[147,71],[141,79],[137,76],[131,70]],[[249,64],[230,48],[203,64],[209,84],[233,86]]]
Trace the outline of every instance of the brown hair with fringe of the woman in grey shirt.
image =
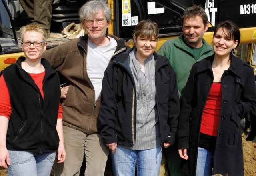
[[[147,38],[154,36],[156,39],[158,39],[158,35],[159,35],[158,25],[156,24],[156,22],[152,22],[149,19],[140,21],[136,25],[133,33],[133,36],[135,36],[135,38],[138,38],[138,36],[147,37]],[[134,43],[134,46],[135,45],[136,44]]]

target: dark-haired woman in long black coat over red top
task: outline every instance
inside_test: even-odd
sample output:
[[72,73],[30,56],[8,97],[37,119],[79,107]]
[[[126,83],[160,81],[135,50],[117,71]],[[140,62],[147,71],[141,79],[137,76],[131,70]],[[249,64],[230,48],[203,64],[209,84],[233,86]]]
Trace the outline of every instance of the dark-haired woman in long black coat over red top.
[[[240,119],[255,113],[254,72],[234,57],[240,43],[230,21],[215,27],[215,54],[193,65],[180,102],[178,151],[191,176],[243,176]],[[212,169],[213,168],[213,169]]]

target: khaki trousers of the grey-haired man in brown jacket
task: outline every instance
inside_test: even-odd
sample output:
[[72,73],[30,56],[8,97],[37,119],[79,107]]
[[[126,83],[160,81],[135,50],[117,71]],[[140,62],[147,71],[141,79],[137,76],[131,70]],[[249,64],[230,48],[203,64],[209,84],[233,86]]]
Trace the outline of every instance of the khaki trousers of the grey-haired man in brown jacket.
[[56,164],[56,176],[79,176],[80,167],[86,160],[85,176],[104,176],[109,150],[100,134],[86,134],[63,126],[66,160]]

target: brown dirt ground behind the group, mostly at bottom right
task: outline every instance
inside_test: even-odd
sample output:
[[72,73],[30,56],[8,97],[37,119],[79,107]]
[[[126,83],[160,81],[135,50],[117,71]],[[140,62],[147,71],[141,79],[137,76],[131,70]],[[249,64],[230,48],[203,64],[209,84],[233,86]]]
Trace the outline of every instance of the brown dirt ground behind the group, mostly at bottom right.
[[[242,136],[244,149],[244,174],[245,176],[256,176],[256,143],[246,141]],[[0,168],[0,176],[7,176],[6,170]]]

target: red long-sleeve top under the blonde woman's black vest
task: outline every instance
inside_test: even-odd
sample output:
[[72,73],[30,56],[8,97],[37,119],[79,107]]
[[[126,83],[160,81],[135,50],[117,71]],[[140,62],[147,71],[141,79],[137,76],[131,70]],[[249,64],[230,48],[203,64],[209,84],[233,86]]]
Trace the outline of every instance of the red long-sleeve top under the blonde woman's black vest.
[[[44,98],[44,92],[43,92],[43,79],[45,72],[42,73],[28,73],[38,86],[42,97]],[[6,85],[6,82],[4,80],[4,76],[0,77],[0,116],[5,116],[8,119],[10,119],[10,116],[12,114],[12,103],[10,101],[10,92],[8,90],[8,87]],[[58,118],[62,118],[62,108],[61,105],[59,105],[58,110]]]

